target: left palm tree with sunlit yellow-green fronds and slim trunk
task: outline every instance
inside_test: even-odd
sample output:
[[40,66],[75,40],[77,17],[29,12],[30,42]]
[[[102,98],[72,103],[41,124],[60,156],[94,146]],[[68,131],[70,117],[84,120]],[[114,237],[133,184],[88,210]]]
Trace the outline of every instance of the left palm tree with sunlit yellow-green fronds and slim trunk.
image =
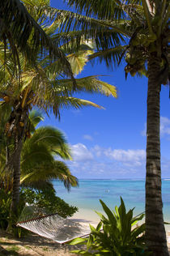
[[[81,70],[87,61],[87,53],[80,51],[79,53],[68,54],[67,58],[73,66],[74,73]],[[83,56],[82,56],[83,55]],[[8,62],[6,63],[5,82],[0,97],[2,105],[11,105],[12,112],[6,123],[5,134],[8,143],[14,142],[14,150],[9,151],[7,144],[7,159],[5,169],[13,169],[13,199],[11,209],[16,213],[17,203],[19,202],[19,182],[20,182],[20,156],[23,147],[23,139],[30,134],[30,123],[28,122],[28,114],[33,106],[36,105],[46,113],[53,111],[56,117],[60,117],[59,109],[69,108],[70,106],[79,109],[84,105],[92,105],[101,108],[99,105],[88,100],[81,100],[73,97],[74,84],[72,79],[61,79],[62,70],[59,66],[60,62],[49,62],[49,58],[45,57],[37,59],[36,68],[29,65],[27,60],[20,56],[22,64],[21,81],[13,75],[13,66],[15,62],[10,58],[10,52],[6,51]],[[38,57],[37,57],[38,58]],[[85,61],[82,59],[85,58]],[[10,81],[10,82],[9,82]],[[116,96],[115,87],[104,83],[91,76],[83,79],[77,79],[77,92],[98,92],[106,96]]]

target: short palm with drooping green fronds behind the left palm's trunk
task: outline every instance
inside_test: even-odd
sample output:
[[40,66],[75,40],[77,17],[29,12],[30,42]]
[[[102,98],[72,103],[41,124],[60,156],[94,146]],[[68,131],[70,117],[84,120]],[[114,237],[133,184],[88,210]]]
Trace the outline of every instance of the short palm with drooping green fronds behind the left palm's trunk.
[[[4,112],[7,113],[7,109],[3,109]],[[41,126],[36,129],[36,126],[42,120],[44,118],[38,111],[33,110],[29,114],[31,134],[30,138],[24,141],[21,152],[21,185],[32,187],[35,190],[43,190],[48,187],[53,188],[51,180],[59,179],[63,181],[66,189],[70,190],[70,186],[78,186],[77,178],[70,173],[69,168],[62,161],[72,159],[70,148],[60,130],[51,126]],[[3,126],[1,128],[3,129]],[[3,143],[1,141],[1,171],[6,160],[4,156],[6,154],[4,148],[6,141],[4,139]],[[6,192],[12,190],[13,178],[11,172],[2,172],[1,182]]]

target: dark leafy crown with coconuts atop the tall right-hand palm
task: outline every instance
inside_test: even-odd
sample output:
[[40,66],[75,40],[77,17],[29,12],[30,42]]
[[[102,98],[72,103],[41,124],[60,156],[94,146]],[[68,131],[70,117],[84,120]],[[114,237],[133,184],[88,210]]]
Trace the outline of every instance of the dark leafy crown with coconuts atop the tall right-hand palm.
[[[69,0],[79,13],[57,11],[57,22],[61,29],[70,27],[83,32],[96,41],[96,53],[90,60],[98,58],[108,66],[117,65],[125,58],[125,76],[147,75],[146,64],[150,53],[159,52],[160,83],[168,81],[168,1]],[[85,15],[84,15],[85,14]],[[158,44],[159,42],[159,44]]]

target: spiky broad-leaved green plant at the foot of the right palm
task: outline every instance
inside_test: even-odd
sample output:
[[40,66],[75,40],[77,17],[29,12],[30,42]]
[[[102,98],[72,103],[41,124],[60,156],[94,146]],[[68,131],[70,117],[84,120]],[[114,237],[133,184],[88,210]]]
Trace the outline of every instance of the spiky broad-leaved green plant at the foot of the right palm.
[[122,198],[120,207],[115,207],[115,211],[111,211],[102,200],[100,203],[107,217],[96,212],[100,215],[100,223],[96,228],[90,225],[89,237],[79,237],[70,241],[70,245],[86,245],[86,250],[74,250],[73,252],[96,256],[150,255],[145,245],[145,224],[137,226],[144,214],[133,217],[134,208],[126,212]]

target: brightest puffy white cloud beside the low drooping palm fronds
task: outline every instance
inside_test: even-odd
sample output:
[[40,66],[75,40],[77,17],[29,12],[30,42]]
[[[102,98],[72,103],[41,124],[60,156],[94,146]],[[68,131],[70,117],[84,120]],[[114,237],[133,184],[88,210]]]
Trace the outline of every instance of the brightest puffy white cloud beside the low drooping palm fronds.
[[71,146],[72,149],[72,156],[74,161],[87,161],[87,160],[93,160],[93,155],[91,151],[87,149],[87,147],[82,144],[74,144]]

